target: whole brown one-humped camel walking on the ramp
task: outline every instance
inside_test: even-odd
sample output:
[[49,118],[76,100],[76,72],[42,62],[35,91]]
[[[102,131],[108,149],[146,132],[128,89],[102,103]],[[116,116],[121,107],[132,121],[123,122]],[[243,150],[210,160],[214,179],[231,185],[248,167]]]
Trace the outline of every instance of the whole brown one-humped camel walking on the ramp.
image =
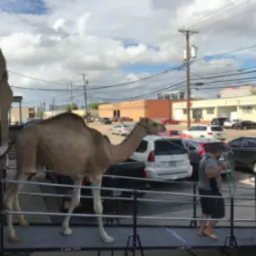
[[[31,127],[22,129],[15,138],[17,153],[17,173],[15,180],[25,181],[31,174],[38,172],[37,166],[49,166],[49,169],[72,178],[75,185],[81,185],[84,177],[94,187],[101,187],[102,175],[110,164],[129,158],[139,146],[141,139],[148,134],[158,132],[157,124],[151,119],[141,118],[132,133],[119,145],[112,145],[96,129],[89,128],[84,119],[73,113],[62,113],[45,119]],[[4,194],[4,205],[8,210],[21,211],[18,192],[22,183],[11,183]],[[80,203],[80,188],[74,188],[68,214],[73,213]],[[101,190],[93,190],[93,209],[102,215]],[[20,225],[28,225],[24,217],[18,215]],[[98,216],[98,225],[102,241],[114,242],[104,230],[102,217]],[[72,234],[69,227],[70,216],[62,224],[63,234]],[[7,214],[9,240],[21,241],[13,229],[13,215]]]

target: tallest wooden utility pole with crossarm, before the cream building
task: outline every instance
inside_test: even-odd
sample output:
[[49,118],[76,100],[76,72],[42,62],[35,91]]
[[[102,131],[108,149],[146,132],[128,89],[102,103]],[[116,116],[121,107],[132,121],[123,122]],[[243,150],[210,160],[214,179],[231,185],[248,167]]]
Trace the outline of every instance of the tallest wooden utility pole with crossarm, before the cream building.
[[179,29],[179,32],[183,33],[186,38],[186,67],[187,67],[187,127],[190,128],[190,36],[195,33],[199,33],[199,31],[196,30],[190,30],[190,29]]

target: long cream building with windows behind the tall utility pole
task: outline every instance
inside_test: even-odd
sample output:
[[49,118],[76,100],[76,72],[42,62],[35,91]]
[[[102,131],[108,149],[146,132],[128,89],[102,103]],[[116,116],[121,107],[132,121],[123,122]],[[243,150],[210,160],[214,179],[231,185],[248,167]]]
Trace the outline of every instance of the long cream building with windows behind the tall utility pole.
[[[172,103],[173,118],[181,122],[187,121],[187,103]],[[237,119],[256,121],[256,96],[209,99],[190,103],[191,121],[199,119],[201,123],[209,123],[214,118],[230,118],[234,113]]]

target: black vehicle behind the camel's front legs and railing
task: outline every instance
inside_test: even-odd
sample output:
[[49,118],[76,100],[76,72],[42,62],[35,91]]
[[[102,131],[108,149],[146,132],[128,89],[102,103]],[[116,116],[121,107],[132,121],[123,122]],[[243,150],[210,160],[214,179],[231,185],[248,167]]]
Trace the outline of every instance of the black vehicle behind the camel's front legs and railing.
[[[124,163],[118,163],[114,165],[110,165],[107,172],[104,175],[115,175],[116,178],[104,177],[102,179],[102,188],[118,188],[118,189],[128,189],[128,190],[150,190],[150,185],[148,181],[137,181],[137,180],[126,180],[118,178],[118,176],[127,176],[127,177],[135,177],[135,178],[147,178],[146,166],[143,162],[134,162],[128,159]],[[57,183],[57,184],[73,184],[73,181],[70,179],[69,176],[66,175],[59,175],[54,172],[49,172],[48,178]],[[82,182],[83,186],[90,186],[90,182],[84,181]],[[66,198],[59,198],[59,208],[61,211],[66,211],[68,208],[68,204],[70,201],[70,195],[72,194],[72,189],[68,188],[58,188],[57,189],[59,194],[67,195]],[[120,190],[102,190],[101,192],[102,197],[131,197],[133,195],[132,192],[128,191],[120,191]],[[69,197],[68,197],[69,196]],[[85,198],[83,196],[92,196],[91,189],[82,189],[81,190],[81,206],[88,206],[92,205],[92,199]],[[138,197],[143,197],[143,193],[139,193]],[[103,203],[107,204],[110,200],[104,200]],[[124,201],[120,201],[124,202]]]

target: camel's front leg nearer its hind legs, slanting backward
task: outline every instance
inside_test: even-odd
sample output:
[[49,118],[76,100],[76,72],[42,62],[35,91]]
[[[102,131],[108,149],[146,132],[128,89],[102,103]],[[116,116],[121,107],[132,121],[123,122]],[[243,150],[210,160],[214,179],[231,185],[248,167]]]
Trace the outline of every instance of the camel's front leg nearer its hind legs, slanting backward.
[[[83,179],[77,179],[77,180],[74,180],[74,185],[75,186],[80,186],[81,183],[82,183]],[[79,188],[74,188],[73,189],[73,194],[72,194],[72,199],[71,199],[71,202],[70,202],[70,206],[69,206],[69,209],[68,209],[68,216],[65,217],[64,221],[63,221],[63,234],[72,234],[72,229],[69,227],[69,222],[70,222],[70,217],[71,217],[71,214],[74,212],[75,210],[75,207],[77,207],[80,203],[80,197],[81,197],[81,187]]]

